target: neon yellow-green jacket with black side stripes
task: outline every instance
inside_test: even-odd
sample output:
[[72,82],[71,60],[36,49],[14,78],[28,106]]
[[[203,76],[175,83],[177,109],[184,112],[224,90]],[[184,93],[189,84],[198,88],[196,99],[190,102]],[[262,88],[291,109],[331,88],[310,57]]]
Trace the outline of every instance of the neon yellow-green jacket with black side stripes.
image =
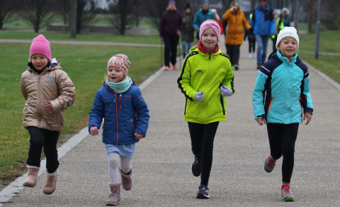
[[[227,120],[223,84],[234,94],[234,74],[229,56],[218,50],[211,55],[193,47],[186,56],[177,79],[179,89],[186,96],[184,120],[193,123],[212,123]],[[203,100],[196,101],[196,92],[204,92]]]

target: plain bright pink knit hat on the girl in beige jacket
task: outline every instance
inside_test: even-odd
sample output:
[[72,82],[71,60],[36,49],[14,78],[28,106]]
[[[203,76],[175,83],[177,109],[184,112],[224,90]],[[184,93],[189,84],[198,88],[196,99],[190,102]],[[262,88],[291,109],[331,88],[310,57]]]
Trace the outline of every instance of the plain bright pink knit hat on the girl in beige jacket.
[[32,44],[30,45],[30,57],[36,53],[45,55],[48,60],[52,60],[50,43],[44,35],[38,35],[32,40]]

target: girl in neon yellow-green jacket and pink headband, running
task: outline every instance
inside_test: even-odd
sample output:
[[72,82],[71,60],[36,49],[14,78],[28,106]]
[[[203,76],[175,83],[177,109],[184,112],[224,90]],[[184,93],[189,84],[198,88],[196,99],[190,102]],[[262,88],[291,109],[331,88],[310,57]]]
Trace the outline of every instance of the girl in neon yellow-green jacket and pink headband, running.
[[200,176],[197,198],[209,198],[212,147],[218,123],[227,119],[225,96],[234,94],[234,74],[229,57],[217,45],[220,26],[205,21],[199,36],[198,47],[186,56],[177,83],[186,96],[184,120],[195,156],[191,171]]

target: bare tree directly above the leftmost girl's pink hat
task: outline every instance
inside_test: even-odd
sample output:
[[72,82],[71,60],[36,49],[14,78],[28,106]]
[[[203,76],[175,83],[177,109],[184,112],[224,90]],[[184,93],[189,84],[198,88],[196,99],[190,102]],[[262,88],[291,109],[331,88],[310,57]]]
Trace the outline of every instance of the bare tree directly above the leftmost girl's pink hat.
[[[52,21],[55,0],[21,0],[18,1],[21,9],[21,17],[33,26],[35,33],[40,27]],[[18,7],[18,6],[17,6]]]

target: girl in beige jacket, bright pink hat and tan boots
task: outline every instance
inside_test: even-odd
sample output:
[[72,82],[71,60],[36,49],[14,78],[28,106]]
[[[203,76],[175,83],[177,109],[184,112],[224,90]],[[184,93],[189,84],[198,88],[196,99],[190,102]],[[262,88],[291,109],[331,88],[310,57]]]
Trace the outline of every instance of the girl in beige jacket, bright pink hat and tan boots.
[[64,126],[64,110],[74,102],[75,88],[60,63],[51,59],[50,43],[43,35],[34,38],[30,45],[30,62],[20,85],[26,99],[23,125],[30,133],[28,177],[23,186],[35,186],[43,148],[47,174],[43,192],[52,194],[59,167],[57,141]]

